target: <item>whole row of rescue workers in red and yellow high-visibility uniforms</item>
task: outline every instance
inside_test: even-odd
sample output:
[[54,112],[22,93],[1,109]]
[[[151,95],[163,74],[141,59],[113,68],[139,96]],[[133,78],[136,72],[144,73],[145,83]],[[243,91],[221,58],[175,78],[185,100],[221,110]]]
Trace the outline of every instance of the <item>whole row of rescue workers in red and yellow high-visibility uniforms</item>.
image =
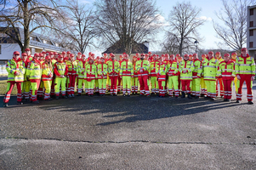
[[[230,101],[233,82],[236,86],[236,102],[242,100],[242,84],[247,84],[247,101],[253,104],[252,84],[255,77],[253,57],[247,54],[247,48],[242,48],[241,55],[225,54],[224,59],[217,52],[214,56],[210,51],[202,54],[135,54],[129,60],[123,53],[117,61],[115,54],[103,54],[96,57],[92,53],[74,54],[62,52],[42,52],[31,56],[30,48],[21,54],[15,51],[13,59],[6,65],[9,72],[8,87],[3,99],[7,107],[10,94],[17,85],[17,105],[22,100],[39,103],[38,99],[75,97],[84,91],[88,96],[105,95],[108,90],[111,96],[117,96],[122,91],[123,96],[137,94],[150,97],[157,94],[178,98],[200,96],[214,100],[219,94],[224,101]],[[219,86],[218,86],[219,83]],[[138,89],[139,88],[139,89]],[[151,88],[151,89],[150,89]],[[220,89],[219,89],[220,88]],[[181,93],[181,94],[180,94]]]

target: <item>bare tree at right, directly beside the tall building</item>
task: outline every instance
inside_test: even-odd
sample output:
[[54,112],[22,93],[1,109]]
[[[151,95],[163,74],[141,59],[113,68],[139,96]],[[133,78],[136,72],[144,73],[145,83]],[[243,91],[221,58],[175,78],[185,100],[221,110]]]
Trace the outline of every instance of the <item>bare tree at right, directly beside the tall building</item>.
[[215,12],[221,24],[213,22],[219,42],[219,48],[228,46],[235,51],[240,51],[247,41],[247,6],[255,0],[221,0],[223,8]]

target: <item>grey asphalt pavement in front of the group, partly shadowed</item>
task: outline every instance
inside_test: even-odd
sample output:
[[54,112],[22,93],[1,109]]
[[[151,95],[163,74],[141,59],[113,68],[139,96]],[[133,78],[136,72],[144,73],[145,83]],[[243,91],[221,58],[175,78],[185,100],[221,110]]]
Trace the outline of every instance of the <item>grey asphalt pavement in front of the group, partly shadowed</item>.
[[240,104],[234,94],[231,102],[82,95],[39,105],[12,96],[0,105],[0,169],[256,169],[256,104],[243,94]]

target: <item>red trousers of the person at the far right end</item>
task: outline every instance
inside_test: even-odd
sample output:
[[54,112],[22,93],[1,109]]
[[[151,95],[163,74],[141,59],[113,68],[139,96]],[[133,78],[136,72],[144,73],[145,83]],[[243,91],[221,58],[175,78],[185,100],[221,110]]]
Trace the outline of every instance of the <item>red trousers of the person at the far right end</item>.
[[239,75],[241,77],[241,80],[237,80],[237,83],[239,84],[238,92],[236,94],[236,100],[242,100],[242,84],[243,82],[246,82],[247,84],[247,100],[253,101],[253,81],[251,81],[252,75]]

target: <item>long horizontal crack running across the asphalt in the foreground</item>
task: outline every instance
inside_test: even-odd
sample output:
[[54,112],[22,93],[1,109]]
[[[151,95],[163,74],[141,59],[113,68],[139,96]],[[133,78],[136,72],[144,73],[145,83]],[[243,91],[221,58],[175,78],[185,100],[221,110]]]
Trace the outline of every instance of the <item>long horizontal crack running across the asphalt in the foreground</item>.
[[5,137],[0,139],[24,139],[24,140],[56,140],[61,142],[71,142],[71,143],[88,143],[88,144],[127,144],[127,143],[149,143],[149,144],[248,144],[256,145],[256,142],[251,143],[211,143],[211,142],[162,142],[162,141],[150,141],[150,140],[128,140],[128,141],[89,141],[89,140],[67,140],[67,139],[28,139],[20,137]]

